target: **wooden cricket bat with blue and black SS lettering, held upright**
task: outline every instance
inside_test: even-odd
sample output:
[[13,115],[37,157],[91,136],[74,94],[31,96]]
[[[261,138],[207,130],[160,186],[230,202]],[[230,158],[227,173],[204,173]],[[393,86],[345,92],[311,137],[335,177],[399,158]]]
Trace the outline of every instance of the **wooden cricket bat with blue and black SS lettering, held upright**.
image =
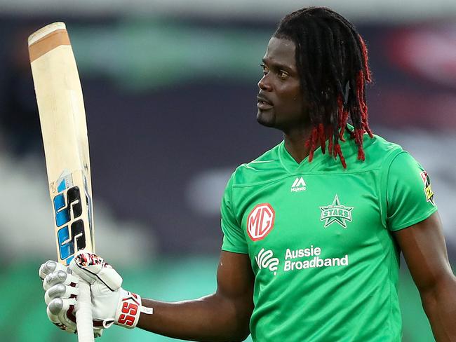
[[[29,36],[36,102],[43,135],[58,261],[68,265],[79,249],[95,252],[86,112],[67,29],[54,22]],[[79,342],[93,338],[90,286],[80,280]]]

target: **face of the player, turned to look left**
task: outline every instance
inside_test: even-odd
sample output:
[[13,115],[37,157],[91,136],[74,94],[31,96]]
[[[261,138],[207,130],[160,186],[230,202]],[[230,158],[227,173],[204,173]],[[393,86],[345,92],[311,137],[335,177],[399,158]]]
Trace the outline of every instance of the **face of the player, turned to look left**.
[[287,131],[309,122],[295,61],[295,43],[272,37],[263,57],[263,77],[258,82],[257,121]]

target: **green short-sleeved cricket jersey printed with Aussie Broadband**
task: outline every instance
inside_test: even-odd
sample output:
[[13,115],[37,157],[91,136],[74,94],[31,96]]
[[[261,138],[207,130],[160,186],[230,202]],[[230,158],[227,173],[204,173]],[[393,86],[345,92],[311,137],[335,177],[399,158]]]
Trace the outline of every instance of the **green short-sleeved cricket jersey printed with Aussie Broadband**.
[[283,142],[239,166],[222,199],[222,249],[249,255],[259,342],[401,341],[399,251],[392,231],[436,212],[422,166],[364,137],[366,161],[296,161]]

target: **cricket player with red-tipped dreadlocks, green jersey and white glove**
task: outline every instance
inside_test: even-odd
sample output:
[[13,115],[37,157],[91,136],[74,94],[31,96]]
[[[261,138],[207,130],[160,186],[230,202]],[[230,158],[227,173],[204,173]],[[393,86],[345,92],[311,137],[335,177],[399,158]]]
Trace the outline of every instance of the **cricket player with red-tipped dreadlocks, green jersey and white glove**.
[[368,53],[354,25],[328,8],[290,13],[262,70],[257,121],[284,139],[229,179],[217,291],[141,299],[81,253],[40,268],[51,321],[75,331],[83,278],[97,336],[118,324],[192,341],[398,342],[402,252],[436,341],[456,341],[456,281],[429,176],[369,128]]

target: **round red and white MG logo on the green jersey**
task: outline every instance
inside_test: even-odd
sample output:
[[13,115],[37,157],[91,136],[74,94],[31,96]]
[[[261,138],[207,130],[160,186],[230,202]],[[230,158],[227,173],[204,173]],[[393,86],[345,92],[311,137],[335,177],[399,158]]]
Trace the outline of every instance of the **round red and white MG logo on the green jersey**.
[[276,212],[269,203],[256,205],[247,217],[247,233],[253,241],[262,240],[274,226]]

